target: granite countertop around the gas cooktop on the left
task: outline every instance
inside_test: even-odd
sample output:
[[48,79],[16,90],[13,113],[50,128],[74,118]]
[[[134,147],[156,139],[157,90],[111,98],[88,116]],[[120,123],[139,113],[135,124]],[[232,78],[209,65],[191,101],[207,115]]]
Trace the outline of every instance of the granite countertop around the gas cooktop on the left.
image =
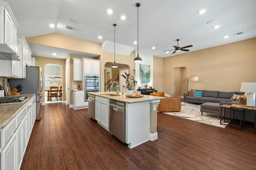
[[35,96],[36,94],[20,94],[20,96],[28,97],[24,102],[18,104],[0,104],[0,129],[2,129],[12,118],[21,111],[24,106]]

